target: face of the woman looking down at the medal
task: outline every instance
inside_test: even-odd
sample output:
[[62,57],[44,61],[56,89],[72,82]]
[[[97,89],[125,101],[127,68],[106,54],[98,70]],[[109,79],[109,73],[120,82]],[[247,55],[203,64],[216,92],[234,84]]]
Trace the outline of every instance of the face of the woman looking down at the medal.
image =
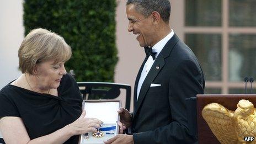
[[60,86],[61,78],[66,74],[65,62],[55,64],[54,60],[36,64],[35,76],[41,89],[52,89]]

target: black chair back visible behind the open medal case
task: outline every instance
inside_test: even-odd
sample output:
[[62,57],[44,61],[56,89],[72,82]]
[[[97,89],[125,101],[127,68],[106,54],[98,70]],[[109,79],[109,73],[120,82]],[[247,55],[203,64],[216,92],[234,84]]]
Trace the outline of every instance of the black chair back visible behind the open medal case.
[[119,99],[120,89],[125,89],[125,108],[130,110],[131,86],[129,84],[108,82],[77,82],[77,84],[83,99]]

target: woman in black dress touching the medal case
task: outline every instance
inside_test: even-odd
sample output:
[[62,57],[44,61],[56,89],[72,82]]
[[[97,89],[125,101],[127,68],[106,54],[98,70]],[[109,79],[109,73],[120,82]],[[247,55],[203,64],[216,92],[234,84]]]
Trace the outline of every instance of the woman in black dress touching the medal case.
[[64,63],[65,40],[45,29],[32,30],[18,51],[22,75],[0,91],[0,131],[6,143],[78,143],[102,121],[85,118],[76,81]]

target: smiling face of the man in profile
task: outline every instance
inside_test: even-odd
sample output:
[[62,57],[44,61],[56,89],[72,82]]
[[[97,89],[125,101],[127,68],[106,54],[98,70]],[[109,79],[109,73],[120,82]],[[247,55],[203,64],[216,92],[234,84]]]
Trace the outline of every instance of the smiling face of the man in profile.
[[153,46],[153,25],[151,15],[147,18],[135,10],[134,4],[126,6],[126,15],[129,19],[128,31],[137,36],[141,47]]

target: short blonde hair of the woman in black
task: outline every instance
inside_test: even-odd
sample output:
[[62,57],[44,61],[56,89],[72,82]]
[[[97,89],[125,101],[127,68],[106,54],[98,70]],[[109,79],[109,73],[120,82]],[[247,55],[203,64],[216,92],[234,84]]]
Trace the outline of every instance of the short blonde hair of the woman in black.
[[46,29],[31,30],[19,47],[19,69],[33,74],[36,64],[49,60],[66,62],[72,54],[71,47],[62,36]]

